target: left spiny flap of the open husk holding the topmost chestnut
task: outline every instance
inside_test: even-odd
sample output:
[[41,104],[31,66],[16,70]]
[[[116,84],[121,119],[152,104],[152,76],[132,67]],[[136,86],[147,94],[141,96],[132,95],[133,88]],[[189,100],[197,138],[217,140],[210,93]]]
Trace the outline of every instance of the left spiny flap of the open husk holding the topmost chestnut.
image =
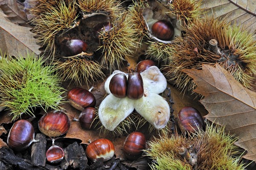
[[148,29],[146,26],[146,22],[143,19],[143,8],[149,7],[148,3],[144,0],[136,2],[133,1],[132,5],[128,7],[127,20],[131,20],[129,22],[132,24],[134,29],[135,36],[139,39],[141,43],[144,37],[148,36]]

